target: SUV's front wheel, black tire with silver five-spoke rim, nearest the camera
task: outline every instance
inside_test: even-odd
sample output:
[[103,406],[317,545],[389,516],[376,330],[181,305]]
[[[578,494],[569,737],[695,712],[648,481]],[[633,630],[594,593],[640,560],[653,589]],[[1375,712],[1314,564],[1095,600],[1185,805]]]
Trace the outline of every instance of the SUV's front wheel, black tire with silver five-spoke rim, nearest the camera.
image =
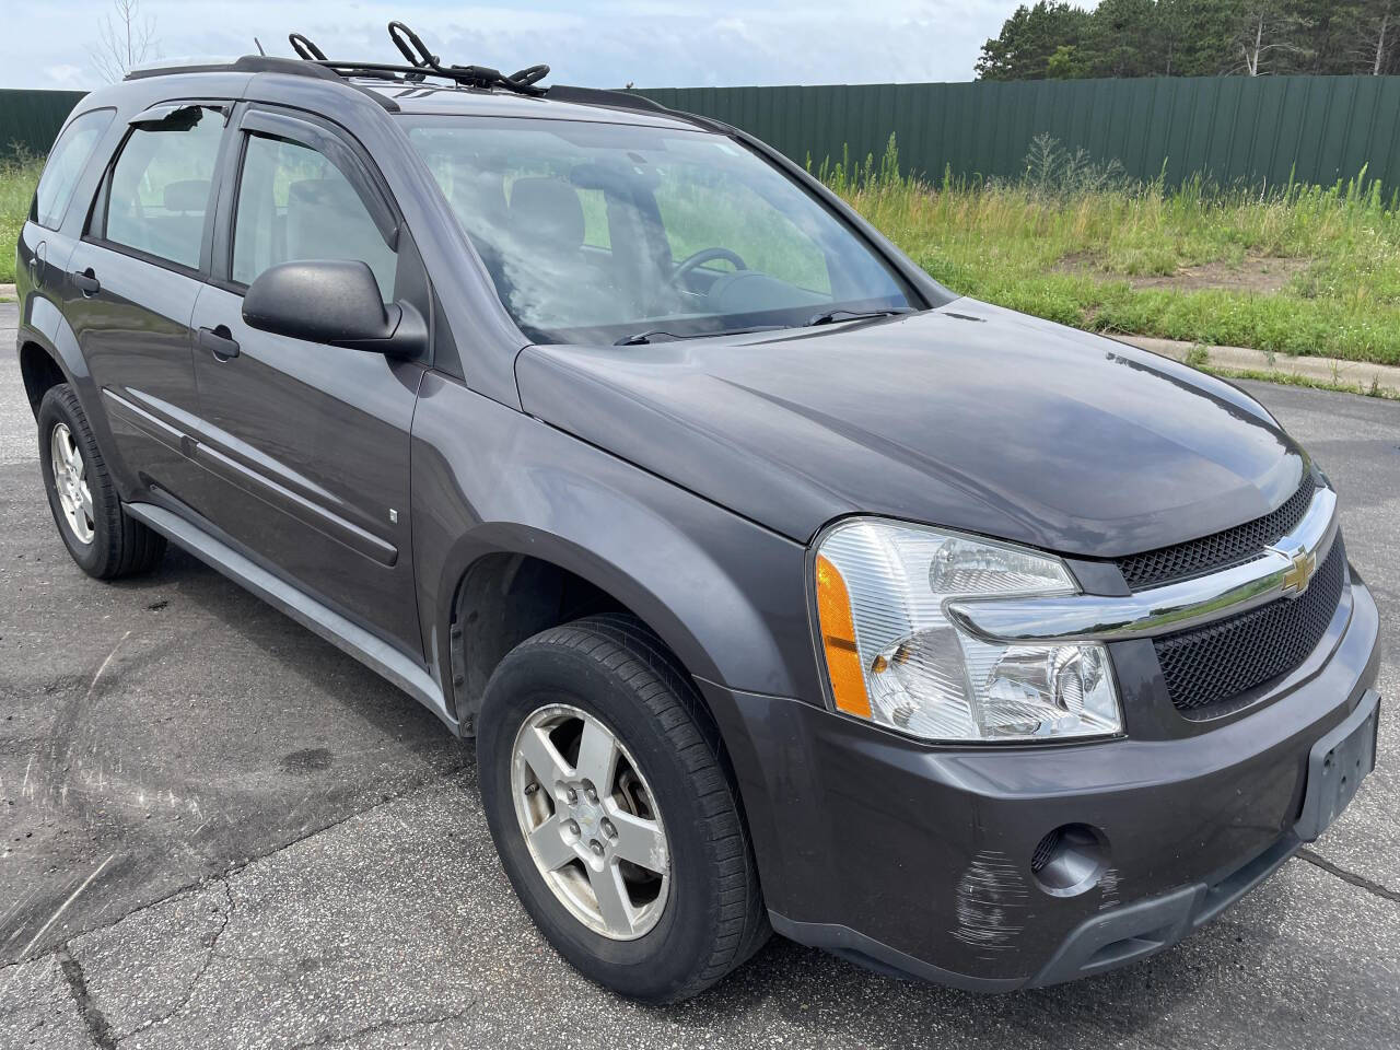
[[[598,769],[578,753],[589,725],[612,732],[617,743],[617,778],[606,774],[598,804],[602,832],[580,787],[591,783],[585,773]],[[554,745],[545,762],[518,760],[529,750],[529,734],[547,734]],[[722,979],[769,938],[738,788],[718,731],[675,657],[640,622],[592,616],[511,650],[486,686],[476,753],[482,801],[505,874],[539,930],[585,977],[631,998],[673,1002]],[[601,752],[594,746],[591,753]],[[539,776],[535,766],[556,760],[561,766],[553,767],[557,780],[550,784],[550,774]],[[577,805],[559,781],[575,787]],[[564,825],[557,833],[545,826],[545,812]],[[609,825],[608,813],[619,827]],[[566,818],[574,816],[571,836]],[[532,841],[547,840],[539,851],[526,843],[526,822],[535,820],[540,826]],[[634,827],[654,825],[662,830],[665,862],[652,848],[641,858],[645,867],[633,865],[623,854],[629,846],[633,855],[638,853]],[[598,843],[606,857],[591,860],[587,847]],[[554,851],[570,860],[546,872],[557,864]],[[602,913],[609,910],[594,892],[594,879],[610,876],[615,861],[627,902],[636,906],[624,909],[636,918],[633,930],[624,924],[602,930],[598,923],[602,917],[606,924],[609,916]]]

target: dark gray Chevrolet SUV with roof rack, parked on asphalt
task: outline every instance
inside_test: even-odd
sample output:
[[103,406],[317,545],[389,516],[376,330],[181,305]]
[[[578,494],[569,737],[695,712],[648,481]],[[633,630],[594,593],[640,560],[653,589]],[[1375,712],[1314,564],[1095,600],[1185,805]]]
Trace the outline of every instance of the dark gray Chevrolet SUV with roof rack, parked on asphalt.
[[18,246],[53,518],[475,735],[585,974],[678,1000],[773,930],[1099,973],[1371,771],[1376,606],[1246,393],[956,297],[732,127],[298,46],[63,129]]

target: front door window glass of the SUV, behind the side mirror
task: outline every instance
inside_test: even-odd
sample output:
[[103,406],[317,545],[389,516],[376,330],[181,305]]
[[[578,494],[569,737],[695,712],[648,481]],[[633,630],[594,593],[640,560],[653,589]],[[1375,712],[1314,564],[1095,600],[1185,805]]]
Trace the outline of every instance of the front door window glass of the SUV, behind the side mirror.
[[252,284],[298,259],[358,259],[393,298],[398,258],[344,174],[308,146],[253,134],[244,154],[234,220],[232,277]]

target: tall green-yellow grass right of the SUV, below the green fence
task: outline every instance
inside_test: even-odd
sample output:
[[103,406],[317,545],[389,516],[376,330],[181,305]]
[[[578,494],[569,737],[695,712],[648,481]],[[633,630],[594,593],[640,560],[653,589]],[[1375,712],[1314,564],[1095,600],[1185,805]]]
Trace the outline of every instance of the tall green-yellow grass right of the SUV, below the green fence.
[[[1044,179],[900,175],[879,160],[818,174],[955,291],[1103,332],[1400,363],[1400,209],[1358,178],[1333,186],[1217,188],[1197,178]],[[1302,260],[1281,291],[1137,288],[1134,277],[1218,263]]]

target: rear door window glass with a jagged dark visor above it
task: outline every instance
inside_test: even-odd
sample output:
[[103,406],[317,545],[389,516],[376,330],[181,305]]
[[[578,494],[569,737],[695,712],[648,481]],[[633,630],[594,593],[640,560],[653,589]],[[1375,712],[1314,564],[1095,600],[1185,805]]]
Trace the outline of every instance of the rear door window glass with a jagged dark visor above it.
[[112,168],[105,239],[196,269],[223,133],[224,115],[202,106],[134,127]]

